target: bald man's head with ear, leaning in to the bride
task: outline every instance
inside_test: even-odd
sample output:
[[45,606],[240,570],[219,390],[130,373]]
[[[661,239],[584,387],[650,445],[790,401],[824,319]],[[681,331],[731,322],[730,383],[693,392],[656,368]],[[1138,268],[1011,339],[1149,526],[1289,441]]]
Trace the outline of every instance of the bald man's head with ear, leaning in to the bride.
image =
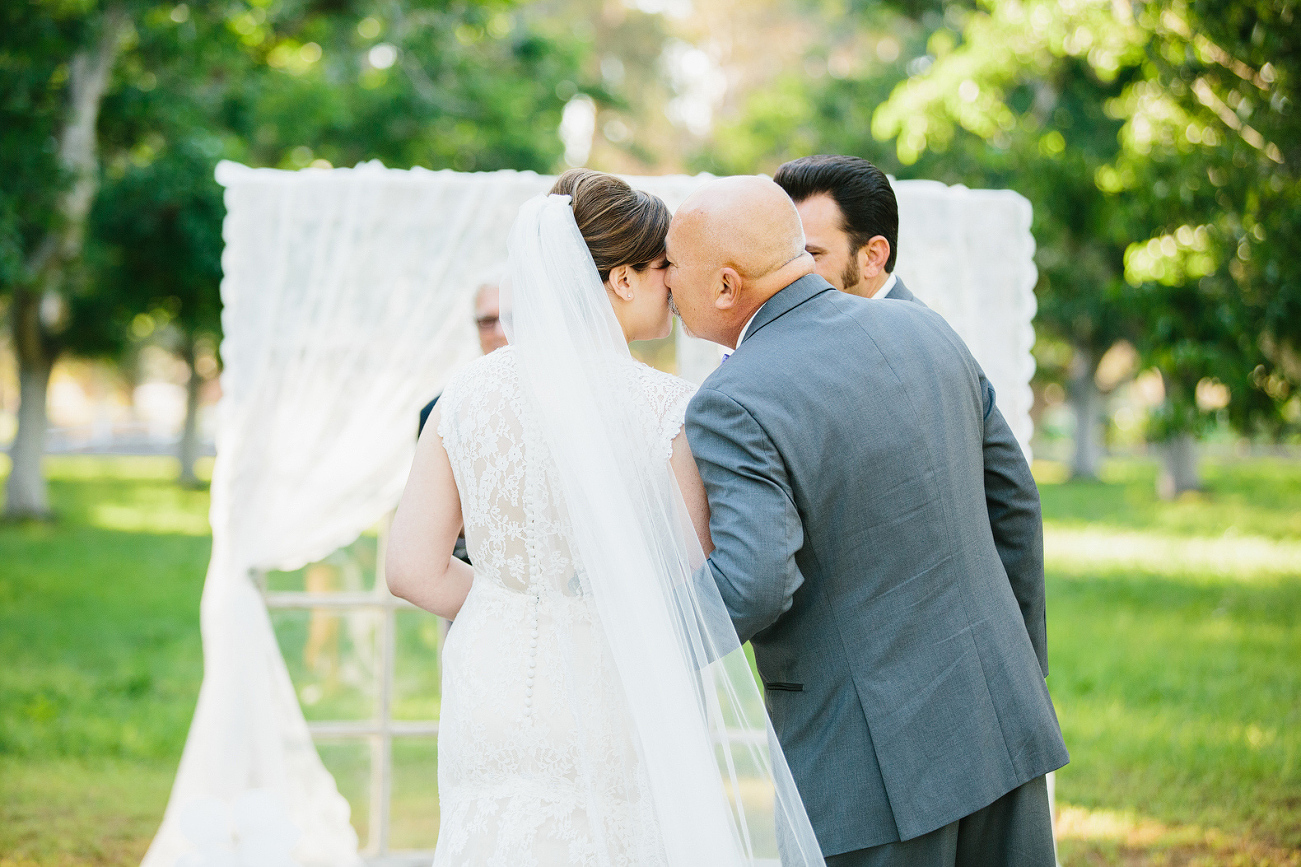
[[667,282],[687,331],[735,346],[764,302],[813,273],[795,203],[766,177],[709,181],[669,225]]

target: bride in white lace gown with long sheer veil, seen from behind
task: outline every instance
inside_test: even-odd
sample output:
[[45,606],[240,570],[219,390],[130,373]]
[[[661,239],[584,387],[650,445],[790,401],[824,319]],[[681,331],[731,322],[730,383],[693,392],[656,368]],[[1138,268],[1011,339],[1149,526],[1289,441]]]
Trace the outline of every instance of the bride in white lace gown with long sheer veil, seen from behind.
[[510,345],[451,379],[420,439],[386,575],[455,620],[435,864],[822,864],[703,569],[692,387],[628,354],[670,331],[669,219],[585,169],[527,202]]

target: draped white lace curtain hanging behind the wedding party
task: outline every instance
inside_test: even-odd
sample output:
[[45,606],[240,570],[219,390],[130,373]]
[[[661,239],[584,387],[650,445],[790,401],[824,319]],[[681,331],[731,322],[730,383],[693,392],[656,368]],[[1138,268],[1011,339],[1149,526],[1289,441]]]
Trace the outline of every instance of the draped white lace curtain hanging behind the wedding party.
[[[477,351],[472,290],[505,259],[519,206],[553,178],[222,163],[217,180],[225,370],[204,680],[144,866],[350,866],[347,803],[312,745],[252,575],[320,560],[396,505],[416,410]],[[670,208],[704,180],[628,178]],[[898,273],[967,340],[1028,448],[1029,203],[919,181],[895,190]],[[678,358],[699,381],[718,353],[682,338]]]

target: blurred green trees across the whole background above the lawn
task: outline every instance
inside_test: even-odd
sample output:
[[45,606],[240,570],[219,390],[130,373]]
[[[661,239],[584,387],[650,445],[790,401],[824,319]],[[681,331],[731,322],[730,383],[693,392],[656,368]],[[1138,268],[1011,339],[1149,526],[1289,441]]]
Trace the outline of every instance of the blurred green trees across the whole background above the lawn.
[[[220,159],[736,173],[846,152],[1029,198],[1036,387],[1039,409],[1073,414],[1073,473],[1147,440],[1167,492],[1197,488],[1197,437],[1301,432],[1296,14],[1294,0],[5,4],[0,305],[22,391],[38,402],[65,354],[129,374],[157,344],[198,393],[195,359],[220,338]],[[1134,393],[1140,411],[1118,415]],[[21,489],[38,415],[20,410],[10,514],[46,509]]]

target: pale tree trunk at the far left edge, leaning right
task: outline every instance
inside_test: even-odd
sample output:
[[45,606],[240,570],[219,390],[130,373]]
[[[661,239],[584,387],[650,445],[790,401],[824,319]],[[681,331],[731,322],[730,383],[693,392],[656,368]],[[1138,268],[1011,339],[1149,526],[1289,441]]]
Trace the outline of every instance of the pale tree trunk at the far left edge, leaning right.
[[66,325],[68,271],[81,258],[86,217],[99,189],[99,107],[129,25],[126,8],[121,3],[111,5],[100,18],[95,43],[78,51],[69,64],[68,118],[59,137],[59,163],[72,182],[59,197],[55,225],[27,263],[25,285],[14,292],[21,404],[12,452],[13,474],[5,497],[8,518],[49,514],[40,471],[48,427],[46,392],[59,357],[57,335]]

